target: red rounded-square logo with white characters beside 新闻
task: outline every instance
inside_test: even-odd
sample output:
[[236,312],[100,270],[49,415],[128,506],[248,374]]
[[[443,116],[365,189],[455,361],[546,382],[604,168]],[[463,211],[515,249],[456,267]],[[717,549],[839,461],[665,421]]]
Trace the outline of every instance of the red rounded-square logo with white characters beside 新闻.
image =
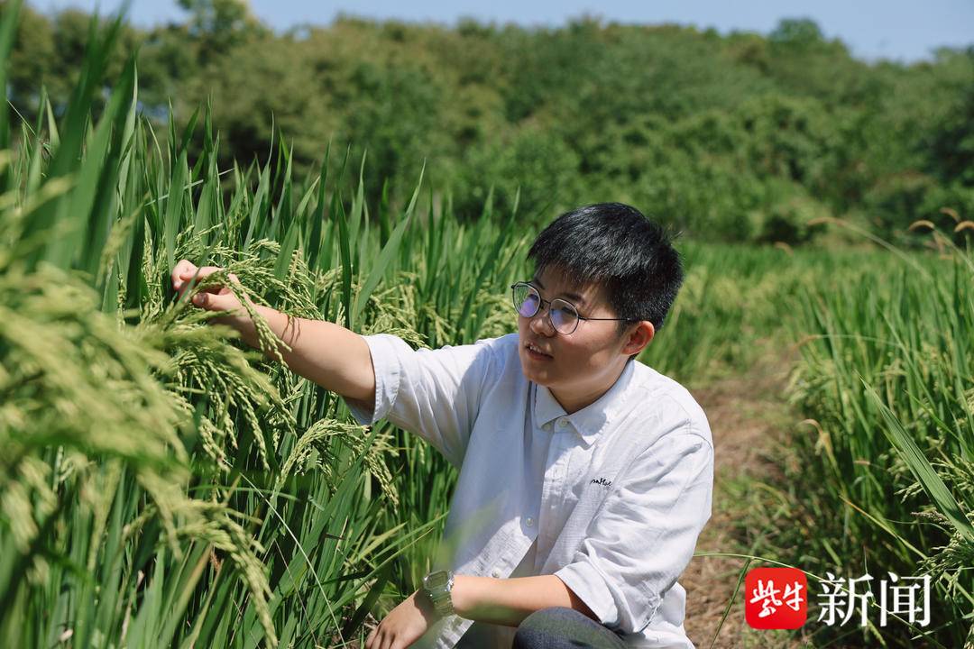
[[744,617],[754,629],[798,629],[807,605],[808,580],[798,568],[754,568],[744,577]]

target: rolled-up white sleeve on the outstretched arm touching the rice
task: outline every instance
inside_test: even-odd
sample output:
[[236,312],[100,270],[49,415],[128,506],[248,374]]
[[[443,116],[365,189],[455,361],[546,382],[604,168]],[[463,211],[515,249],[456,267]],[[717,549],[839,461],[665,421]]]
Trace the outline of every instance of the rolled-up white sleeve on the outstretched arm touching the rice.
[[362,337],[372,355],[375,402],[366,410],[346,401],[356,421],[388,419],[415,433],[460,467],[491,369],[494,339],[439,349],[413,349],[390,334]]

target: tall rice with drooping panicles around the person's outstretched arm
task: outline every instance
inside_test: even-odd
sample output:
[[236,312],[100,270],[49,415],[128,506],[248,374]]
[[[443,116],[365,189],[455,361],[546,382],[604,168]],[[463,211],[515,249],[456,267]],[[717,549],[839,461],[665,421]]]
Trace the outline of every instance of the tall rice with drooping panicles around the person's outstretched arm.
[[371,216],[363,167],[344,195],[347,155],[339,178],[329,151],[293,178],[284,141],[263,167],[218,169],[206,115],[191,162],[194,128],[161,144],[137,114],[133,63],[94,119],[119,25],[93,22],[60,119],[45,103],[16,146],[0,123],[0,632],[10,646],[348,643],[441,528],[419,517],[445,511],[449,485],[431,498],[415,484],[442,467],[175,300],[172,263],[224,266],[295,315],[435,344],[504,329],[492,288],[520,242],[432,206],[419,223],[420,187]]

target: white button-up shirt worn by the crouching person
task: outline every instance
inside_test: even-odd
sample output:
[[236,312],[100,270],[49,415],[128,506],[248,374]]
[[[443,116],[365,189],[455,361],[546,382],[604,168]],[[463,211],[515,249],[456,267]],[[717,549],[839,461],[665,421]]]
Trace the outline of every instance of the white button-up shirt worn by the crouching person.
[[[459,470],[444,528],[464,575],[557,575],[632,647],[693,647],[677,577],[710,518],[710,426],[691,394],[630,361],[596,402],[568,415],[525,379],[518,335],[413,350],[364,337],[375,408]],[[438,620],[413,646],[453,647],[473,624]],[[513,627],[476,623],[509,649]]]

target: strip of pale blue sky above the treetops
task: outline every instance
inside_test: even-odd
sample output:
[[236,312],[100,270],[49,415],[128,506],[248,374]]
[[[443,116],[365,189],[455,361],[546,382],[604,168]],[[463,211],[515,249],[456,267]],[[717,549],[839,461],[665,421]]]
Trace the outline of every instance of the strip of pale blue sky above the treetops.
[[[41,10],[81,7],[103,12],[121,6],[119,0],[33,0]],[[870,60],[891,58],[915,61],[929,58],[939,46],[965,47],[974,43],[974,2],[971,0],[817,0],[798,2],[731,3],[727,0],[250,0],[254,14],[276,29],[300,22],[326,24],[338,13],[368,18],[435,20],[452,24],[471,17],[524,25],[559,25],[582,14],[622,22],[678,22],[700,28],[716,27],[722,33],[748,30],[768,33],[780,18],[812,18],[829,38],[841,38],[852,53]],[[137,24],[178,20],[184,16],[173,0],[133,0],[130,18]]]

